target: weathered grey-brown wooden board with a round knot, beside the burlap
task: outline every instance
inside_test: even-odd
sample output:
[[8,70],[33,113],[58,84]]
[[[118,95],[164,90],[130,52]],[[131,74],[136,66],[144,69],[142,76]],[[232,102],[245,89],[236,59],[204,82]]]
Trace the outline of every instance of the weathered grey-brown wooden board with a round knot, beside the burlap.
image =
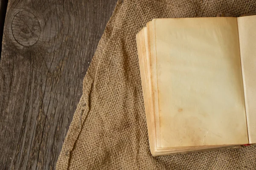
[[54,169],[116,0],[9,0],[0,60],[0,169]]

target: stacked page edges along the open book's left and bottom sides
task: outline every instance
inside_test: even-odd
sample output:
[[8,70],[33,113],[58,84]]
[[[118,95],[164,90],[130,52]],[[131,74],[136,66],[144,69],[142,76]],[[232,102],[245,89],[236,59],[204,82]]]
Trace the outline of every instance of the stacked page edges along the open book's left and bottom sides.
[[[150,22],[151,23],[151,22]],[[152,28],[151,28],[152,29]],[[151,30],[154,32],[154,29]],[[146,119],[147,119],[147,125],[148,125],[148,137],[149,137],[149,143],[150,143],[150,150],[153,156],[157,155],[166,155],[166,154],[172,154],[172,153],[184,153],[184,152],[195,152],[200,150],[211,150],[212,148],[222,148],[223,146],[193,146],[193,147],[157,147],[156,146],[156,130],[155,127],[159,126],[159,115],[158,111],[154,108],[154,111],[156,111],[157,115],[154,114],[153,111],[153,103],[154,99],[152,99],[151,95],[154,91],[155,94],[157,94],[157,89],[153,90],[151,89],[151,83],[156,82],[156,57],[154,54],[154,59],[150,56],[150,48],[148,44],[151,45],[149,41],[149,37],[147,36],[147,30],[146,28],[143,28],[140,33],[137,34],[137,48],[138,48],[138,57],[139,57],[139,63],[140,63],[140,73],[141,73],[141,82],[142,82],[142,89],[143,89],[143,97],[144,97],[144,103],[145,103],[145,113],[146,113]],[[154,33],[153,33],[154,35]],[[155,37],[155,36],[154,36]],[[151,39],[151,38],[150,38]],[[154,43],[154,39],[152,39],[152,44]],[[147,44],[148,42],[148,44]],[[155,49],[155,47],[154,47]],[[154,52],[155,53],[155,52]],[[150,63],[151,62],[151,63]],[[154,65],[151,68],[151,65]],[[154,68],[154,69],[153,69]],[[154,70],[154,75],[151,74],[151,69]],[[151,77],[154,77],[154,81],[151,80]],[[157,83],[155,83],[157,86]],[[153,88],[153,86],[152,86]],[[152,95],[153,96],[153,95]],[[155,99],[157,100],[157,103],[155,102],[154,105],[157,105],[158,109],[158,95],[155,96]],[[158,116],[158,118],[157,118]],[[157,125],[158,120],[158,125]],[[158,127],[158,130],[160,128]],[[159,135],[160,133],[158,133]],[[160,140],[157,139],[157,140]],[[161,144],[161,142],[159,142]]]

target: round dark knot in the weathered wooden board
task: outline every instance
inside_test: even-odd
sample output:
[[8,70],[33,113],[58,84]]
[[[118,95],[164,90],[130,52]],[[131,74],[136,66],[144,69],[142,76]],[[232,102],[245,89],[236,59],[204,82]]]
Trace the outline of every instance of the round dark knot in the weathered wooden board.
[[23,46],[34,45],[40,37],[40,24],[29,11],[19,11],[12,20],[12,34]]

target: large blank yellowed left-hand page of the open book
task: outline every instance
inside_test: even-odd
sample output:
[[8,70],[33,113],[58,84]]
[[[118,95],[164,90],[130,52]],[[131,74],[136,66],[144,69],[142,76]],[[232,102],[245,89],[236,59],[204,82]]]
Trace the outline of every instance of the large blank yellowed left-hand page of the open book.
[[248,143],[236,18],[154,21],[161,146]]

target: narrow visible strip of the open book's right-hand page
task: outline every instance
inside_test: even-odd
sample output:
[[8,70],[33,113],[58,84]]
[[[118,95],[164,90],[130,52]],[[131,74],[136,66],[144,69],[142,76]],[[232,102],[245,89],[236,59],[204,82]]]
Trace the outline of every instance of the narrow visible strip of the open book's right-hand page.
[[237,18],[249,143],[256,143],[256,16]]

